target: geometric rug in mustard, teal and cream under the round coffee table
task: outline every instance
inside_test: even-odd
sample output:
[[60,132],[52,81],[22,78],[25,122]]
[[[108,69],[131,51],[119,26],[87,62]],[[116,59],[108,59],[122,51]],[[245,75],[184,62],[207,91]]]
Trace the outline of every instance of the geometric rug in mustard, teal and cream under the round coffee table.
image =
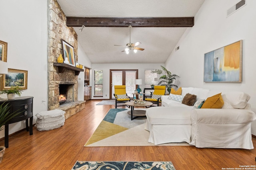
[[[146,117],[131,120],[130,109],[110,109],[84,147],[190,146],[186,142],[154,145],[144,129]],[[146,109],[144,109],[146,110]]]

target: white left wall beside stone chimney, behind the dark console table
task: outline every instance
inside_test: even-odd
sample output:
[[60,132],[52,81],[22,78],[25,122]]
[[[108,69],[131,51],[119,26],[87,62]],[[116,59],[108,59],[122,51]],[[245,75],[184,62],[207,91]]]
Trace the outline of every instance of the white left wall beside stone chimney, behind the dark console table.
[[[22,96],[34,96],[36,123],[36,113],[47,110],[47,1],[1,0],[0,6],[0,40],[8,43],[8,68],[28,70],[28,89]],[[6,94],[0,97],[7,98]],[[25,121],[13,123],[9,134],[25,127]]]

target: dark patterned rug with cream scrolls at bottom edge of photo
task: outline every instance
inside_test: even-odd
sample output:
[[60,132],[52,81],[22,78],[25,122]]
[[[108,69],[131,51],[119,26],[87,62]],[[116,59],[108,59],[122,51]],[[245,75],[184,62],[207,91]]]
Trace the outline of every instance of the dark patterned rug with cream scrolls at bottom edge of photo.
[[172,162],[76,161],[72,170],[175,170]]

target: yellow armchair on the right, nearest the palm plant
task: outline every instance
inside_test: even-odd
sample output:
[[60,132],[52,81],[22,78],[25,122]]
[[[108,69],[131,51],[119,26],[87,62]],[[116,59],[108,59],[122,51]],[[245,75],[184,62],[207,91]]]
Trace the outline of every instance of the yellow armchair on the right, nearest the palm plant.
[[148,96],[145,98],[146,102],[152,102],[153,104],[157,104],[159,106],[159,103],[161,103],[161,96],[165,95],[166,86],[154,86],[154,92],[152,96]]

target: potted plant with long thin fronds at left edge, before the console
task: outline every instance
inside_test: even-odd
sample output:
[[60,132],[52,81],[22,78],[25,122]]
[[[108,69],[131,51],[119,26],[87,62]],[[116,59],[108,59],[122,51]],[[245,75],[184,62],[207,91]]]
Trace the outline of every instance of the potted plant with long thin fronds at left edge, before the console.
[[[0,131],[4,129],[4,125],[13,117],[20,114],[21,112],[15,111],[10,114],[10,106],[8,106],[8,103],[4,102],[0,104]],[[0,146],[0,162],[2,162],[3,155],[5,152],[5,147]]]

